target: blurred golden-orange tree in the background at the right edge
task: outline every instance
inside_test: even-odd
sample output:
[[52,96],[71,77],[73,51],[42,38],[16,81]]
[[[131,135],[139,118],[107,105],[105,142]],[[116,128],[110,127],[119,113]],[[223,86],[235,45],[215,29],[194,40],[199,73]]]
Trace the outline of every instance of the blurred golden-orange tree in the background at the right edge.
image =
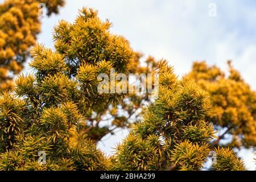
[[[216,130],[222,130],[213,145],[221,145],[220,140],[230,136],[225,144],[230,147],[254,147],[256,144],[256,92],[242,79],[240,73],[228,61],[229,75],[215,65],[195,62],[189,77],[210,94],[212,112],[207,120]],[[228,138],[230,138],[228,137]]]

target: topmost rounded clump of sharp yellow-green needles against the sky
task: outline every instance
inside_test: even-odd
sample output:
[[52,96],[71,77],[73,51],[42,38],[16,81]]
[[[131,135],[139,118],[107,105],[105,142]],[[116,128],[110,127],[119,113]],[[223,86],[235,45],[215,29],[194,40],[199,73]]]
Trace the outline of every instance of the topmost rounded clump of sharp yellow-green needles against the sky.
[[82,9],[75,23],[61,20],[53,38],[56,51],[67,58],[68,73],[77,74],[81,64],[108,61],[117,72],[126,73],[132,56],[129,43],[122,36],[110,34],[112,23],[102,22],[93,9]]

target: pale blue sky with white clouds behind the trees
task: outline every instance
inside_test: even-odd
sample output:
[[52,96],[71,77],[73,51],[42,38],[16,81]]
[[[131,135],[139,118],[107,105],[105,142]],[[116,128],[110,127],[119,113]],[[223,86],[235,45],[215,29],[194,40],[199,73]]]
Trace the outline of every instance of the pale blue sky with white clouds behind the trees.
[[[53,26],[61,19],[73,22],[83,6],[97,9],[101,19],[109,19],[114,25],[111,32],[125,36],[135,51],[167,59],[179,76],[188,73],[195,60],[224,70],[228,69],[226,62],[232,60],[256,90],[254,0],[66,0],[59,15],[42,19],[38,42],[53,48]],[[113,154],[112,147],[127,133],[121,130],[108,135],[98,147]],[[255,169],[252,150],[242,150],[239,155],[247,169]]]

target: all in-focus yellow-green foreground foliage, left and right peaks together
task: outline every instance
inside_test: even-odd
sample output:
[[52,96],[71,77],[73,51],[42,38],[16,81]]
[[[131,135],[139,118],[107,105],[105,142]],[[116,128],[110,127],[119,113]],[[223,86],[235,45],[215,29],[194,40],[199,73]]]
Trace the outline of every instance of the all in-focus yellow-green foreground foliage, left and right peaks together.
[[[208,93],[177,79],[166,61],[148,57],[142,66],[142,54],[110,26],[84,8],[74,23],[55,27],[56,51],[32,48],[34,73],[0,95],[0,170],[199,170],[210,150],[220,160],[213,169],[245,169],[229,148],[210,146]],[[149,94],[98,93],[100,73],[152,73],[158,64],[159,97],[143,111]],[[97,142],[131,121],[131,133],[107,158]],[[46,164],[38,163],[39,151]]]

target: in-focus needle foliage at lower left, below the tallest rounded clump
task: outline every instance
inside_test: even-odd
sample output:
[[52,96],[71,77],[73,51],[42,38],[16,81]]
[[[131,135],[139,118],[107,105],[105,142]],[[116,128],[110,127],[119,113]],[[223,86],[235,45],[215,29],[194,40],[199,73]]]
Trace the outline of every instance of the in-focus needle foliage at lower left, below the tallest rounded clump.
[[[104,155],[86,134],[91,90],[65,75],[63,55],[39,44],[31,55],[35,75],[20,75],[14,94],[5,92],[0,98],[0,169],[105,169]],[[46,152],[46,166],[38,163],[38,151]]]

